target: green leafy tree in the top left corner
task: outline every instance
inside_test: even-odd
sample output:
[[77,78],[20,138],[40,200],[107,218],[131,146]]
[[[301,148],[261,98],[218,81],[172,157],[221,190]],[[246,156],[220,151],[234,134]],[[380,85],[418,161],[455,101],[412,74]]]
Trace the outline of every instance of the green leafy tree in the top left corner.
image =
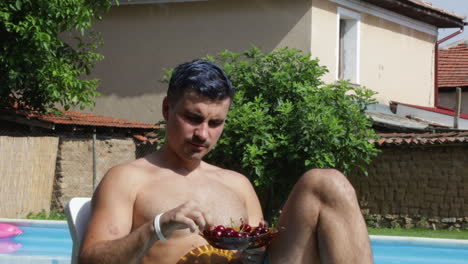
[[[98,81],[82,77],[102,59],[94,52],[101,43],[83,36],[110,5],[111,0],[0,1],[0,106],[94,106]],[[73,45],[59,37],[73,30],[81,33]]]

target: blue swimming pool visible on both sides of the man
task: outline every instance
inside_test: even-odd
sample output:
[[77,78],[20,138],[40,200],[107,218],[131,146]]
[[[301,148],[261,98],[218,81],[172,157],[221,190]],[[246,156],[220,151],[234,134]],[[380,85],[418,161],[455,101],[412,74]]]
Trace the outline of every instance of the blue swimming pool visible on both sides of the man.
[[[72,240],[64,221],[12,221],[23,235],[0,239],[0,263],[69,264]],[[468,264],[468,240],[371,236],[375,264]]]

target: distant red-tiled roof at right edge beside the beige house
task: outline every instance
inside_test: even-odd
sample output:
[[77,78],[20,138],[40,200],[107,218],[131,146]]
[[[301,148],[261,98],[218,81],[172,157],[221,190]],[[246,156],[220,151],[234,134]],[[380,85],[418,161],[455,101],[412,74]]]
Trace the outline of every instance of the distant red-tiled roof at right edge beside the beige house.
[[439,87],[468,86],[468,46],[458,44],[439,51]]

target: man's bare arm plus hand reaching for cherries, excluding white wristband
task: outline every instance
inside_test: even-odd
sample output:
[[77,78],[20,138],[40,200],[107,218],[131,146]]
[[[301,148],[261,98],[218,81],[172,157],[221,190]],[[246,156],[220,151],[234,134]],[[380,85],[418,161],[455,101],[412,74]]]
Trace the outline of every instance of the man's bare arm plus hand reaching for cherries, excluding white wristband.
[[[80,264],[140,263],[158,240],[153,221],[132,231],[133,206],[141,183],[136,169],[126,166],[112,168],[93,195]],[[169,239],[176,230],[202,231],[212,226],[212,221],[198,202],[187,201],[161,215],[159,224]]]

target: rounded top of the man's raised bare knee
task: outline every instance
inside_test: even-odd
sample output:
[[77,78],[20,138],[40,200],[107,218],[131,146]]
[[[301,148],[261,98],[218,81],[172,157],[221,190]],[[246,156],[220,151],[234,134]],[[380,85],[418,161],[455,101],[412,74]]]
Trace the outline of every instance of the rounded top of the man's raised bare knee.
[[298,183],[323,203],[334,205],[356,202],[353,186],[343,173],[335,169],[309,170],[302,175]]

